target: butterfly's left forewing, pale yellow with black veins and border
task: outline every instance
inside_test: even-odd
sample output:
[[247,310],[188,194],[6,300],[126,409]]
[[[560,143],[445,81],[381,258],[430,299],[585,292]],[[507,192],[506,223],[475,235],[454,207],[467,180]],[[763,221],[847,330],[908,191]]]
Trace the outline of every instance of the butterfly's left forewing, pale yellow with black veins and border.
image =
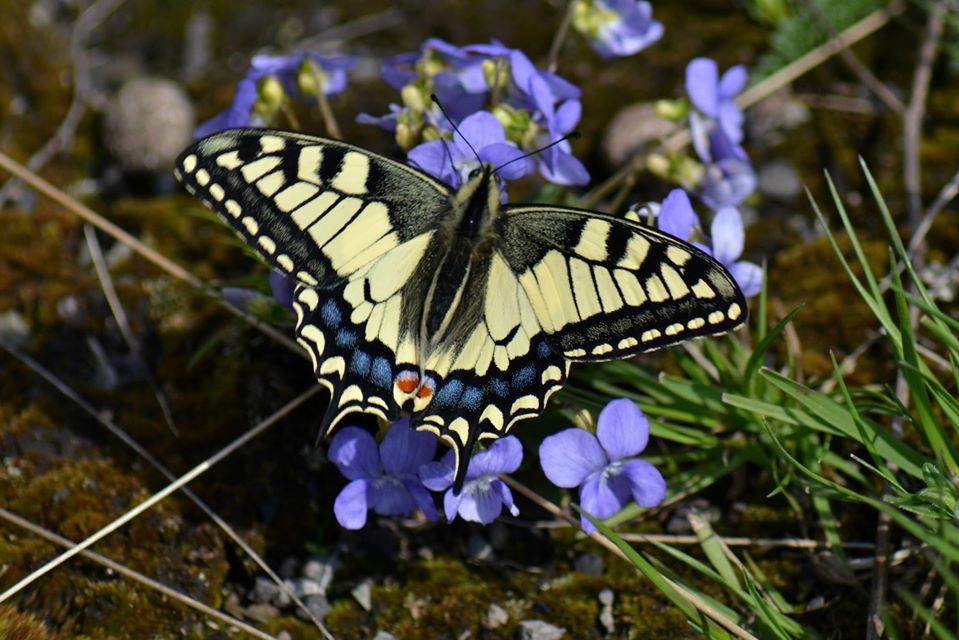
[[177,160],[177,177],[275,269],[331,286],[438,224],[451,191],[336,140],[230,129]]

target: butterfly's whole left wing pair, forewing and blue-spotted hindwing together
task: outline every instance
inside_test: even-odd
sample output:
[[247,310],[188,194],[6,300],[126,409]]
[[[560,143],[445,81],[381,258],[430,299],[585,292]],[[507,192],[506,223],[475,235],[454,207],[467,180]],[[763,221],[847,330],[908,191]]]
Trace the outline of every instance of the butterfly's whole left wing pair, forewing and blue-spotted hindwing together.
[[297,340],[331,393],[320,435],[352,412],[397,418],[396,378],[419,357],[400,323],[405,287],[449,214],[449,187],[352,145],[264,129],[200,140],[176,174],[298,283]]

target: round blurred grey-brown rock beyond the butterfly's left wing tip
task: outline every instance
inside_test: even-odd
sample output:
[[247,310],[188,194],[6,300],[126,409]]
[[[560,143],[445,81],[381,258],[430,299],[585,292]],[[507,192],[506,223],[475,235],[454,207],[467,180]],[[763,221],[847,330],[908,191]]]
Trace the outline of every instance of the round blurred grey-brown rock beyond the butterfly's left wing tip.
[[178,84],[135,78],[107,106],[104,143],[127,171],[166,170],[193,140],[193,126],[193,105]]

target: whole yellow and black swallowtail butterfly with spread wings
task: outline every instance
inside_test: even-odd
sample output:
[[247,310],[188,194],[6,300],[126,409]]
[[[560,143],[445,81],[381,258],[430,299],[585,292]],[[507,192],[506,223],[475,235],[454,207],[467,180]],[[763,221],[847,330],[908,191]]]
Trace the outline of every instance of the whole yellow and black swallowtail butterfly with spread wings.
[[455,452],[539,415],[570,363],[729,331],[742,292],[699,249],[620,217],[501,205],[494,170],[453,189],[338,140],[204,138],[177,178],[295,284],[296,339],[330,392],[320,424],[370,413]]

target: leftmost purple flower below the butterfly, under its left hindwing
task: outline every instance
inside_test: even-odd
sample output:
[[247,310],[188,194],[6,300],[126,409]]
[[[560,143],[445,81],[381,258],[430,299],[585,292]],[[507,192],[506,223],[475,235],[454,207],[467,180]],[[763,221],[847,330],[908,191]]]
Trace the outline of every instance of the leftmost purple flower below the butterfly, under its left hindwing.
[[373,436],[359,427],[338,432],[329,458],[350,482],[336,496],[337,521],[346,529],[362,529],[370,509],[381,516],[401,516],[417,508],[435,520],[436,507],[417,476],[435,453],[436,438],[411,429],[409,418],[390,427],[379,449]]

